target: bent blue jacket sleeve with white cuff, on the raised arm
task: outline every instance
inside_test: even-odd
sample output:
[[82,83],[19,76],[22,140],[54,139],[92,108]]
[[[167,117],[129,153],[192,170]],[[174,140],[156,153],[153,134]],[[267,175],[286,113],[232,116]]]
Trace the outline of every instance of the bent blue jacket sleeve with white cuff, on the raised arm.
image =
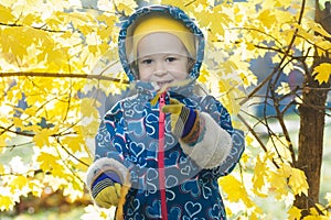
[[215,176],[227,175],[244,151],[243,135],[233,129],[227,110],[211,96],[201,102],[200,120],[199,142],[181,142],[182,148],[201,168]]

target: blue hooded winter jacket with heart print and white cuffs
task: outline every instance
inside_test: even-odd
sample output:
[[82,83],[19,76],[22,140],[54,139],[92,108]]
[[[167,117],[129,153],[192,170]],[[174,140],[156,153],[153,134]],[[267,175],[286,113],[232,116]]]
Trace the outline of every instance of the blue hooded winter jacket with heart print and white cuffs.
[[[153,6],[136,11],[122,24],[119,34],[121,64],[134,87],[131,96],[118,101],[104,117],[96,135],[95,162],[89,167],[90,184],[99,167],[111,167],[131,188],[124,205],[124,219],[161,219],[159,180],[159,105],[151,99],[157,91],[148,82],[137,80],[126,53],[127,30],[147,13],[168,13],[185,23],[197,41],[197,57],[190,73],[193,82],[171,88],[166,97],[196,109],[205,120],[205,132],[195,145],[182,143],[171,133],[170,116],[166,116],[164,173],[168,219],[226,219],[217,178],[227,175],[244,151],[244,138],[233,129],[226,109],[212,96],[194,92],[195,79],[203,61],[204,37],[195,23],[180,9]],[[229,141],[228,141],[229,140]]]

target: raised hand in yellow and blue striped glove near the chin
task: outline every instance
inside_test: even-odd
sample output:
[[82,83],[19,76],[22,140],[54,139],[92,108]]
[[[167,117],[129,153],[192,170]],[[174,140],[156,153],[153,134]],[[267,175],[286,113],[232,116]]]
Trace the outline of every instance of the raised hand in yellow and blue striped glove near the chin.
[[171,114],[171,130],[173,135],[184,140],[189,138],[189,142],[195,141],[190,140],[190,134],[194,133],[192,133],[192,130],[199,130],[199,114],[196,110],[185,107],[175,99],[170,99],[170,105],[166,105],[162,111]]

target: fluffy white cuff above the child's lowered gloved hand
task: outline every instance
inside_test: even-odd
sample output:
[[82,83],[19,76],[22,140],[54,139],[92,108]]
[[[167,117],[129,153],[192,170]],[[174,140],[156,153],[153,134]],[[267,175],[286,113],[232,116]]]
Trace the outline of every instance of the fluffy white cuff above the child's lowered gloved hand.
[[126,176],[128,174],[128,168],[114,158],[108,158],[108,157],[99,158],[95,161],[87,169],[87,175],[85,180],[87,187],[90,189],[93,183],[103,173],[107,173],[107,172],[115,173],[120,178],[120,183],[125,183]]

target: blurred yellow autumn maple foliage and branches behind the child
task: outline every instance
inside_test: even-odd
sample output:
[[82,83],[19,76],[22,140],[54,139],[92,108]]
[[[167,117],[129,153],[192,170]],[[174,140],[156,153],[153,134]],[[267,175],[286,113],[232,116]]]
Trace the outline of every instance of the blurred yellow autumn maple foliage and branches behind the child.
[[[245,131],[241,164],[220,179],[229,219],[330,219],[327,0],[2,0],[0,219],[111,216],[92,205],[85,172],[100,118],[128,86],[120,23],[150,3],[178,6],[202,28],[199,80]],[[320,118],[307,125],[305,113]],[[302,136],[316,141],[306,161]]]

